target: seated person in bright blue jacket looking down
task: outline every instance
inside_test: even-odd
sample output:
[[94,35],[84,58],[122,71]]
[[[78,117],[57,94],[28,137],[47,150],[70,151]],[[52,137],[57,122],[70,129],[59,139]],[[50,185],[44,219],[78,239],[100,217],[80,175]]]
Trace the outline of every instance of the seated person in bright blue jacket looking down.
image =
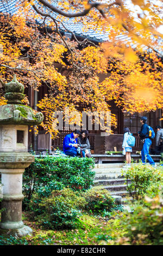
[[[77,156],[80,155],[80,147],[77,138],[80,136],[80,131],[75,130],[71,134],[68,134],[64,138],[63,150],[67,156]],[[85,153],[82,151],[83,157]]]

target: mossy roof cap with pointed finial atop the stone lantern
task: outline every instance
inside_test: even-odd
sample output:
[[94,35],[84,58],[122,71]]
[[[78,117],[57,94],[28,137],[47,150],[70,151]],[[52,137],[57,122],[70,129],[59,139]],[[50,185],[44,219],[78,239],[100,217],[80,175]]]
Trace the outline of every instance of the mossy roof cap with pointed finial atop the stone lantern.
[[16,75],[11,82],[5,84],[5,99],[7,105],[0,106],[0,124],[24,124],[37,125],[43,121],[41,112],[34,113],[29,106],[23,105],[24,86],[16,79]]

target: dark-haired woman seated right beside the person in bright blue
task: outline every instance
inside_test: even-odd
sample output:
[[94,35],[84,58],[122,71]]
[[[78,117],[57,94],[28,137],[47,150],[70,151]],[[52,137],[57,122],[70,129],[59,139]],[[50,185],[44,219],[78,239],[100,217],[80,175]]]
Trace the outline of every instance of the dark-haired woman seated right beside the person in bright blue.
[[89,139],[87,138],[87,133],[88,131],[81,132],[81,135],[78,137],[78,144],[82,148],[82,151],[85,152],[86,156],[91,157],[90,142],[89,142]]

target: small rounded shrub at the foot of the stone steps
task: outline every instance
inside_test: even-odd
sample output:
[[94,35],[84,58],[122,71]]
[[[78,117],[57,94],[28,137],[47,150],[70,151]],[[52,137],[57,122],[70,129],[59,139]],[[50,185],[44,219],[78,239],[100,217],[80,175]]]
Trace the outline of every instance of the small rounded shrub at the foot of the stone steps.
[[103,214],[113,210],[115,204],[114,198],[110,196],[110,193],[101,186],[96,186],[84,193],[87,204],[85,209],[94,214]]

